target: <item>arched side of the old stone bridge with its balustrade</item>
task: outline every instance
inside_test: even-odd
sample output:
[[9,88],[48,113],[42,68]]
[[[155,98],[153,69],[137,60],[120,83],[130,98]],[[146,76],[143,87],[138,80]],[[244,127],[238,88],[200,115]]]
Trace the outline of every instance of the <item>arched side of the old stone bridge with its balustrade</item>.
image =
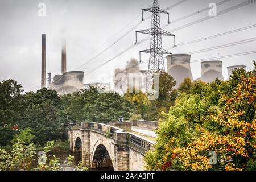
[[115,171],[144,170],[144,154],[155,142],[103,123],[69,125],[71,150],[82,152],[82,163],[92,168],[113,167]]

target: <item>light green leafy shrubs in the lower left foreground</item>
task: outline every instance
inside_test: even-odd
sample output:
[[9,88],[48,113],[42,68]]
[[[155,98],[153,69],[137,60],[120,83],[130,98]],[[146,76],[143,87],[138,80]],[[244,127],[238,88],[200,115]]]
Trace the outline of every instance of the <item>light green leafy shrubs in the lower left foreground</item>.
[[[48,161],[47,153],[51,151],[54,142],[47,142],[44,147],[44,154],[39,156],[39,164],[33,168],[31,163],[35,160],[36,148],[35,144],[26,145],[22,140],[17,140],[13,144],[13,150],[7,152],[0,149],[0,171],[63,171],[73,162],[73,156],[69,155],[64,162],[64,167],[60,167],[60,159],[53,155],[53,159]],[[43,154],[42,152],[42,154]],[[81,163],[74,167],[74,171],[85,171],[87,167],[82,166]]]

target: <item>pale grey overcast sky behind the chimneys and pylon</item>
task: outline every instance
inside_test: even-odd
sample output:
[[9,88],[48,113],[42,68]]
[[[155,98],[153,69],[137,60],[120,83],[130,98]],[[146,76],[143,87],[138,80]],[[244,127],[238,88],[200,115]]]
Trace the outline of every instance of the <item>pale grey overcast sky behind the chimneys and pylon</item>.
[[[188,0],[168,10],[170,21],[189,15],[205,7],[209,3],[222,0]],[[230,0],[217,6],[217,13],[246,0]],[[100,81],[110,82],[114,68],[124,68],[131,58],[139,59],[139,51],[150,48],[147,40],[126,51],[121,56],[95,69],[98,65],[112,59],[135,42],[135,31],[151,27],[148,19],[139,24],[133,31],[117,42],[122,35],[141,21],[141,9],[147,8],[153,0],[0,0],[0,81],[15,79],[27,91],[40,89],[41,79],[41,34],[46,34],[46,71],[54,75],[61,73],[61,39],[67,40],[67,71],[85,71],[84,83]],[[180,0],[159,0],[159,6],[166,9]],[[46,4],[46,16],[38,15],[39,3]],[[256,24],[256,2],[218,15],[181,30],[171,32],[176,35],[176,42],[206,38],[238,28]],[[144,17],[150,16],[148,12]],[[208,11],[180,20],[164,27],[170,31],[185,24],[208,16]],[[161,25],[167,24],[167,15],[161,14]],[[256,27],[205,40],[198,43],[171,49],[172,53],[188,53],[200,49],[221,46],[232,42],[255,37]],[[138,40],[148,35],[138,34]],[[172,37],[163,37],[163,48],[174,44]],[[97,56],[104,49],[112,45]],[[256,41],[232,47],[216,49],[192,54],[191,69],[193,78],[201,76],[200,62],[193,60],[232,55],[234,53],[256,50]],[[142,61],[149,55],[143,54]],[[246,65],[247,71],[253,69],[256,54],[219,59],[223,61],[222,72],[227,78],[226,67],[230,65]],[[84,66],[82,66],[84,65]],[[167,67],[167,65],[166,65]],[[147,63],[141,64],[147,69]],[[92,72],[93,70],[93,72]]]

